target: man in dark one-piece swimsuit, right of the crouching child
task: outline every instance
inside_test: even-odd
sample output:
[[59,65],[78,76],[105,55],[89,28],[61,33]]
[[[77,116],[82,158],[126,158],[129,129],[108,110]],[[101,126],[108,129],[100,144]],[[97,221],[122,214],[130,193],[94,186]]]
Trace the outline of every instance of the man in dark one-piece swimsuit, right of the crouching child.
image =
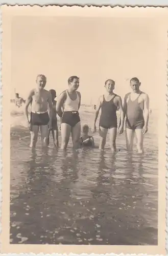
[[116,111],[117,107],[120,111],[121,123],[118,127],[118,133],[122,134],[124,130],[124,112],[122,99],[120,96],[113,93],[115,87],[115,82],[111,79],[108,79],[105,82],[106,94],[102,95],[97,104],[97,108],[95,110],[94,124],[93,124],[93,132],[96,131],[95,123],[97,121],[99,111],[102,109],[100,123],[99,123],[99,135],[101,137],[100,140],[100,150],[104,149],[106,144],[106,136],[109,131],[110,134],[110,146],[112,152],[116,151],[116,133],[117,133],[117,116]]

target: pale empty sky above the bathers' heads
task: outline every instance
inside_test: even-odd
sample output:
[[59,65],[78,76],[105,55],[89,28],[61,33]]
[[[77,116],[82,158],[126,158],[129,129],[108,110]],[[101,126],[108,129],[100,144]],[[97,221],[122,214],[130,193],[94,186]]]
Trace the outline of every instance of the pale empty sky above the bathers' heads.
[[155,25],[148,17],[14,17],[11,97],[16,89],[26,98],[37,74],[44,74],[46,89],[57,94],[77,75],[82,103],[96,104],[107,79],[115,81],[114,92],[123,98],[129,80],[138,77],[153,106],[161,46]]

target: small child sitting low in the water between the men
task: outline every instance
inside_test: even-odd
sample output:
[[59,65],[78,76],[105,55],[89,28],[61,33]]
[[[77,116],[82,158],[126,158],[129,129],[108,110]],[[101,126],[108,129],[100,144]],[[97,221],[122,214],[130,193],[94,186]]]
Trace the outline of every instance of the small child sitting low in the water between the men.
[[87,124],[83,125],[82,132],[83,135],[80,138],[80,145],[94,147],[94,139],[92,136],[88,135],[89,126]]

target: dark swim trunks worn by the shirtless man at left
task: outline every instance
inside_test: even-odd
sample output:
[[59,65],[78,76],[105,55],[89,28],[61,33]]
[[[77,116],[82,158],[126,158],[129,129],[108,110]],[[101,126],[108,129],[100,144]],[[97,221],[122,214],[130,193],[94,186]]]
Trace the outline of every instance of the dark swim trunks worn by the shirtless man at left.
[[31,112],[31,118],[30,118],[30,122],[32,125],[47,125],[49,123],[49,114],[47,112],[43,113],[43,114],[37,114],[37,113],[33,113]]

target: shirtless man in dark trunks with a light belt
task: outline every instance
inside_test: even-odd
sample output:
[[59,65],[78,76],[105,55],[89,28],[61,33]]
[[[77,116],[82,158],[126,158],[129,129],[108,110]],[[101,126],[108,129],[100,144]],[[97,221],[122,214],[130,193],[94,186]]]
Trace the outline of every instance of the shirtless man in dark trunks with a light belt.
[[[48,129],[52,129],[52,97],[49,91],[44,89],[46,77],[38,75],[36,79],[37,88],[30,91],[26,100],[25,115],[31,132],[30,147],[35,147],[39,128],[41,130],[42,145],[47,145]],[[29,120],[28,107],[31,104],[31,118]],[[48,110],[49,109],[49,113]]]

